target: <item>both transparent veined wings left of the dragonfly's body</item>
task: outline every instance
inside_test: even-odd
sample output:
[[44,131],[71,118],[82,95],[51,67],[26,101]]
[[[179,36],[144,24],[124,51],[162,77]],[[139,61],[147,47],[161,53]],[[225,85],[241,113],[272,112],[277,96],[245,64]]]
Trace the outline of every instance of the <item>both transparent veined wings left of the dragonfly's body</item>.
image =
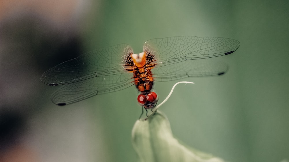
[[132,74],[121,65],[131,53],[133,50],[127,44],[94,50],[49,69],[40,80],[52,86],[66,84],[51,96],[51,101],[58,105],[119,91],[134,84]]

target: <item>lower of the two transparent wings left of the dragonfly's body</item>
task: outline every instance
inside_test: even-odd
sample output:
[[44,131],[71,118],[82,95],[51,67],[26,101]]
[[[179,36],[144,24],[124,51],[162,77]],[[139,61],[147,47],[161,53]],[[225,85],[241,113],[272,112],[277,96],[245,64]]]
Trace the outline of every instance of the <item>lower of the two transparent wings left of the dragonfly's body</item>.
[[94,77],[71,84],[65,84],[51,96],[51,101],[58,105],[66,105],[87,99],[89,97],[120,91],[134,85],[131,82],[132,73],[123,73]]

